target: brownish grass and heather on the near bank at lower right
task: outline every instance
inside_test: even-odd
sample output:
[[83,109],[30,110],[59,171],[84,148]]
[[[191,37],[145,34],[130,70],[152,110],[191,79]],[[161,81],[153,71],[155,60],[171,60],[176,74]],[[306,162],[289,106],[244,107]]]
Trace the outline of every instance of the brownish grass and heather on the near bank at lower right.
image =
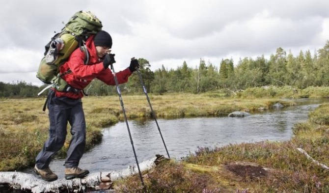
[[[329,104],[325,104],[310,112],[307,122],[294,126],[294,137],[289,141],[200,147],[182,162],[166,161],[144,173],[144,183],[152,193],[329,193],[329,170],[296,149],[304,149],[328,166],[328,119]],[[237,162],[247,164],[250,172]],[[232,165],[242,168],[230,170]],[[263,167],[267,169],[257,176],[256,171]],[[238,175],[241,173],[245,175]],[[113,188],[142,192],[138,180],[137,176],[124,179]]]

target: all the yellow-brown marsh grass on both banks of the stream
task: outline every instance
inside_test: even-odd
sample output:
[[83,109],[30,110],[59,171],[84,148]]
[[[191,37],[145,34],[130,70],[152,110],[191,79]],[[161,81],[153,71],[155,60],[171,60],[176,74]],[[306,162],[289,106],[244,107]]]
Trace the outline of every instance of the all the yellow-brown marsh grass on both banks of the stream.
[[[204,94],[150,95],[153,109],[161,118],[190,116],[225,116],[235,110],[270,109],[279,98],[328,97],[328,87],[297,90],[284,88],[251,88],[228,97],[228,91]],[[129,119],[150,117],[144,95],[123,96]],[[86,150],[97,144],[101,129],[123,120],[117,96],[84,97]],[[44,98],[0,99],[0,171],[19,170],[34,164],[34,158],[48,137],[48,112],[41,110]],[[263,193],[263,192],[329,192],[329,172],[312,164],[296,151],[303,148],[314,159],[329,165],[329,105],[323,105],[309,115],[309,121],[297,124],[295,136],[286,142],[257,142],[200,148],[183,162],[167,161],[145,173],[149,192],[167,193]],[[70,128],[68,127],[68,130]],[[68,132],[69,133],[69,132]],[[67,136],[59,156],[64,157],[70,141]],[[270,168],[265,177],[237,176],[227,165],[251,162]],[[142,192],[138,176],[114,184],[118,192]]]

